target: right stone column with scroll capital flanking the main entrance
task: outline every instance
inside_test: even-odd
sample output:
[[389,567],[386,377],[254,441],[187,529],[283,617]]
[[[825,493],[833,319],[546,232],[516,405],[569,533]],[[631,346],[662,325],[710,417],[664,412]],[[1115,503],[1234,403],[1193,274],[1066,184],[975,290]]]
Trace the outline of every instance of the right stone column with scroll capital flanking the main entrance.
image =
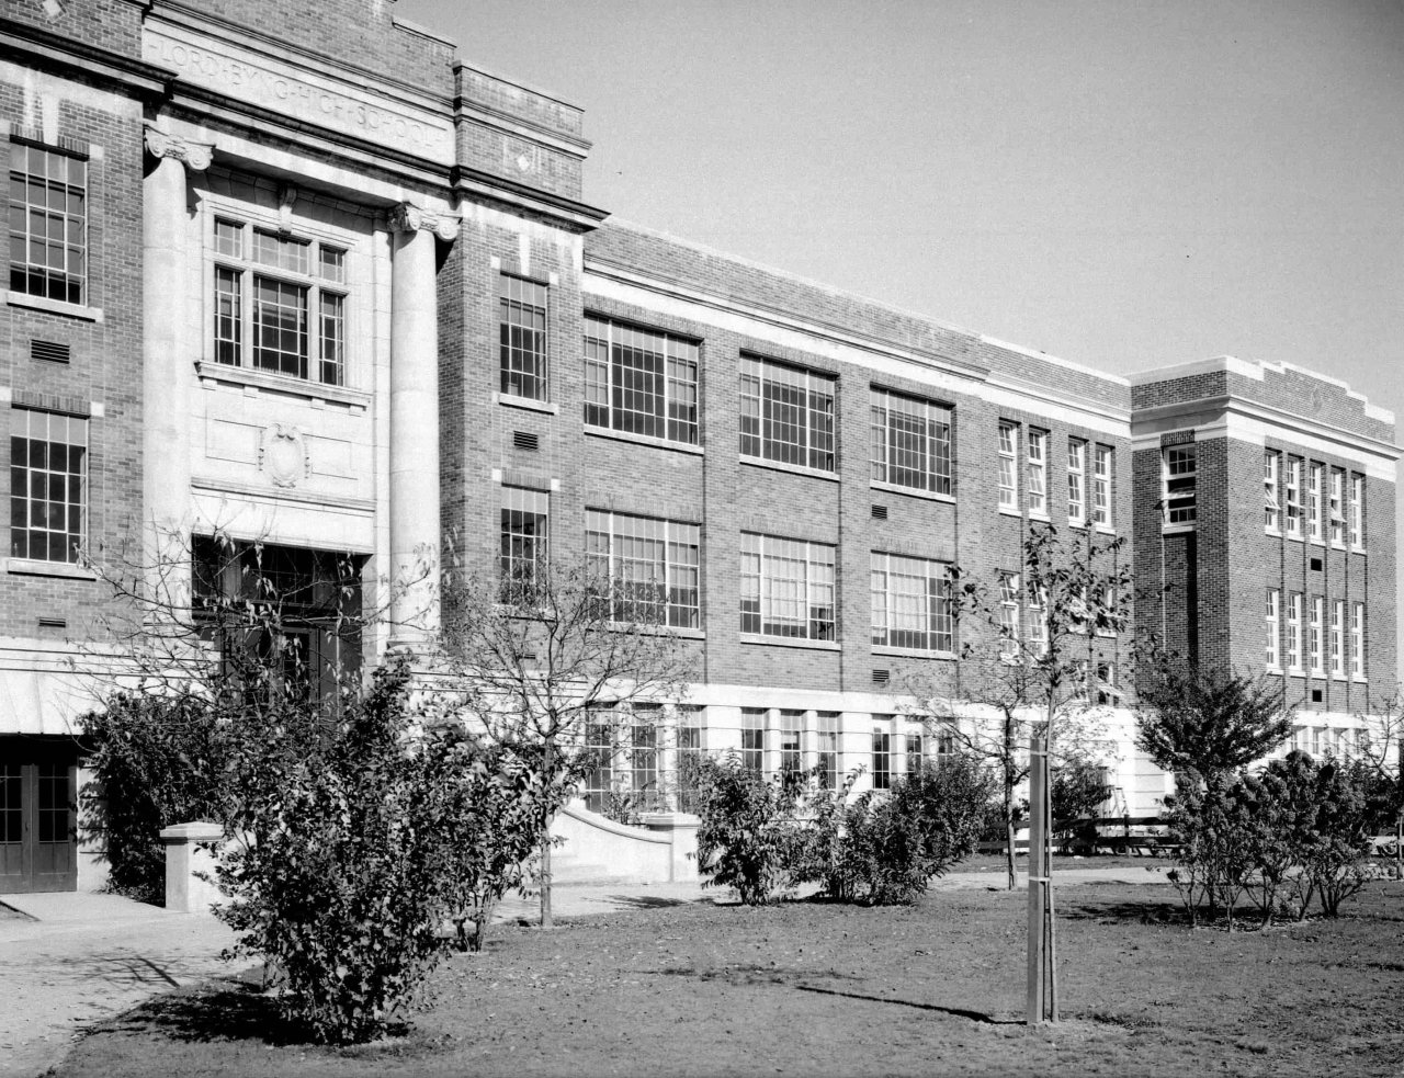
[[390,647],[438,634],[439,422],[434,237],[458,220],[409,202],[390,212]]

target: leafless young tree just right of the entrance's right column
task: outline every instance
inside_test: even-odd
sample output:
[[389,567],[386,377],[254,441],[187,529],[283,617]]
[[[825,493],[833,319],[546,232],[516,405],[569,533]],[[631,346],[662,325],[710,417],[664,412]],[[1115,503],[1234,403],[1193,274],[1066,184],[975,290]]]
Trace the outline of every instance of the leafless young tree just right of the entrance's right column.
[[[539,782],[569,789],[588,762],[584,734],[601,712],[680,700],[692,679],[670,629],[670,597],[592,564],[517,563],[505,580],[451,578],[444,632],[453,682],[490,733],[541,747]],[[552,926],[550,820],[541,817],[541,922]]]

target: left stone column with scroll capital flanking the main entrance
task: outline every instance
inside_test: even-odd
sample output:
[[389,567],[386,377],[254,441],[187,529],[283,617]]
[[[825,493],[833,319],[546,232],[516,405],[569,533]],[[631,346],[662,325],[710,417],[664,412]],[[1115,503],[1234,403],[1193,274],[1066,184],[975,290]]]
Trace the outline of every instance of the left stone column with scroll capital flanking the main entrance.
[[176,609],[187,605],[190,571],[190,394],[191,365],[183,350],[185,324],[195,319],[199,284],[190,281],[185,170],[209,167],[213,146],[146,128],[146,152],[156,167],[142,191],[142,491],[149,594]]

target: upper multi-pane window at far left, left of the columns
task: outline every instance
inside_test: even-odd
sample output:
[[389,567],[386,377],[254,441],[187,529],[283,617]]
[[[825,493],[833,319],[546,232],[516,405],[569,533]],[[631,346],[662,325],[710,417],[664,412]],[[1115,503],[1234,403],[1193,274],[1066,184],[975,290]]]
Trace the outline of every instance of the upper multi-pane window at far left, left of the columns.
[[83,303],[87,161],[10,143],[10,291]]

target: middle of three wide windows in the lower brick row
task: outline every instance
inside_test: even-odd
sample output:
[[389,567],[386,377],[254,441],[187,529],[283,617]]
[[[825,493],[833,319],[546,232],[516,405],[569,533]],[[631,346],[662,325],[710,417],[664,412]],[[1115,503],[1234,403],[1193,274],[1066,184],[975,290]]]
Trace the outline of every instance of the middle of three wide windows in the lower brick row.
[[835,547],[741,533],[741,632],[834,640]]

